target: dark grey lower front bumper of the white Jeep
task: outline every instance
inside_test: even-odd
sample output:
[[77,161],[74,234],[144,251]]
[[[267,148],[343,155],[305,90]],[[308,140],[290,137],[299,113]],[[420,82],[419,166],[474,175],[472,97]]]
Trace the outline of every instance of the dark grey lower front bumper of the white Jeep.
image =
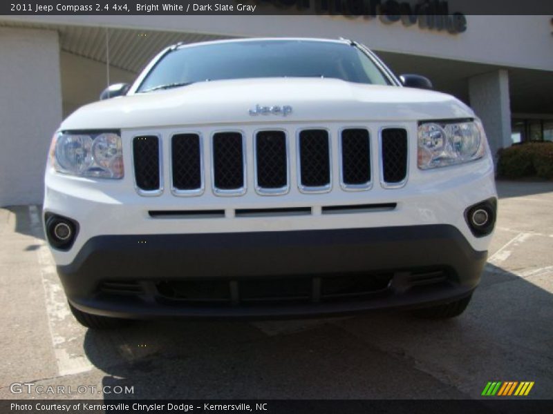
[[487,258],[447,224],[117,235],[57,266],[69,301],[112,317],[306,317],[451,302]]

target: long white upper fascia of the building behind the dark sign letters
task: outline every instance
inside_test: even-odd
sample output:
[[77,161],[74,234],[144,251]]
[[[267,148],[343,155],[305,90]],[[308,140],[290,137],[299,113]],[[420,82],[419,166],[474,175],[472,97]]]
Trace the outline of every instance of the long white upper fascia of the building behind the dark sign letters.
[[[450,2],[462,11],[464,0]],[[551,16],[467,15],[467,31],[448,34],[343,16],[2,16],[6,21],[167,30],[236,37],[347,37],[375,50],[514,68],[553,70]]]

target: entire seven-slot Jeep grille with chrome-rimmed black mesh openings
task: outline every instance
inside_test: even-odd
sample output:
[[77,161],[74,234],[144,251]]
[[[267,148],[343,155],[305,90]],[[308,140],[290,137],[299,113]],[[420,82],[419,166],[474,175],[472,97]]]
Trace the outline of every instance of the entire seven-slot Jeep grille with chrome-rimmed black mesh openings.
[[[368,191],[374,181],[382,188],[404,186],[409,164],[407,130],[380,128],[377,146],[371,144],[371,128],[378,129],[345,126],[337,135],[324,126],[257,130],[252,135],[241,132],[239,126],[220,132],[181,129],[174,135],[163,132],[169,159],[162,159],[161,135],[145,133],[131,141],[135,188],[143,196],[160,195],[165,186],[170,186],[172,195],[194,196],[203,194],[207,182],[215,195],[240,196],[246,193],[248,174],[259,195],[285,195],[292,177],[301,193],[325,193],[332,189],[333,174],[340,184],[335,191]],[[211,137],[206,148],[202,134]],[[295,151],[290,153],[288,139],[294,136]],[[331,148],[337,148],[334,171]],[[247,168],[246,159],[252,155],[253,168]],[[379,159],[377,169],[372,159]],[[169,165],[164,168],[163,162]],[[204,177],[206,163],[211,179]],[[170,172],[167,184],[165,169]]]

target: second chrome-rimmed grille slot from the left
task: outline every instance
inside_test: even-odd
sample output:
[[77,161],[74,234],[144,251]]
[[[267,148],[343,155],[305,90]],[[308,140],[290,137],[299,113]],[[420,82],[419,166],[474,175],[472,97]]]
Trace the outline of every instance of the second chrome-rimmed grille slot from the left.
[[171,166],[173,188],[180,192],[200,190],[202,187],[202,161],[200,136],[179,134],[171,139]]

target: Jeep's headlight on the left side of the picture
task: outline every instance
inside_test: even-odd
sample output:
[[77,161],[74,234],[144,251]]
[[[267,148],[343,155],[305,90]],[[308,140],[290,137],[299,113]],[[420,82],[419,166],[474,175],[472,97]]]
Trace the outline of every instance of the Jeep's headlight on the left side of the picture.
[[123,177],[123,153],[118,133],[60,132],[54,139],[50,157],[57,172],[81,177]]

